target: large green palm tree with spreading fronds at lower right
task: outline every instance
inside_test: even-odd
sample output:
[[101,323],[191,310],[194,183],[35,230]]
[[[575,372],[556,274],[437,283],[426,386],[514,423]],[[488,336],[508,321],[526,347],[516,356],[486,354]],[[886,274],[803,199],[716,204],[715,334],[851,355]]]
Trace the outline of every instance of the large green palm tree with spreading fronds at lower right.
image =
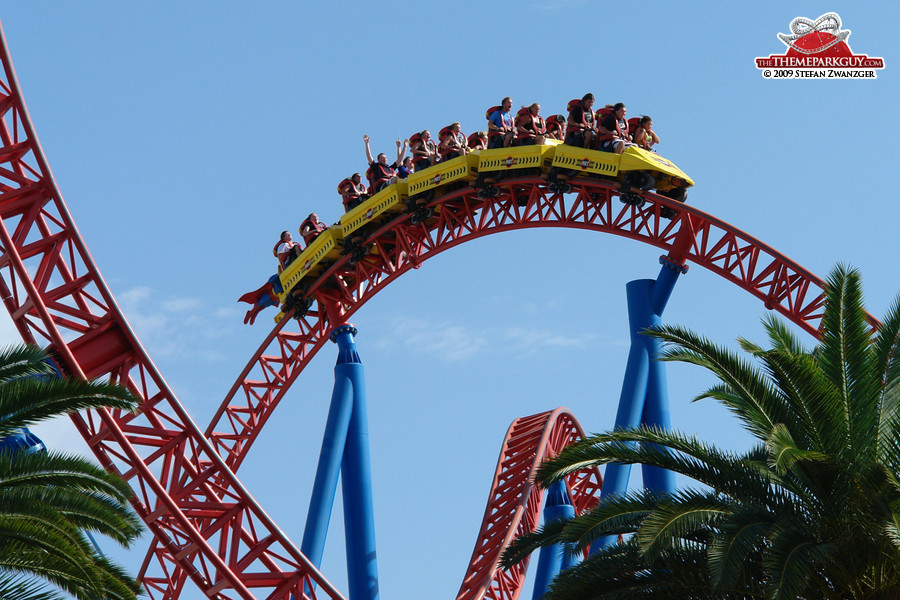
[[653,331],[667,360],[718,377],[697,399],[725,404],[755,446],[735,454],[650,428],[587,438],[543,465],[541,485],[610,462],[702,485],[611,497],[523,536],[504,564],[624,535],[560,574],[546,598],[900,598],[900,302],[873,329],[860,288],[858,272],[833,270],[810,350],[774,318],[771,348],[739,340],[749,360],[683,328]]

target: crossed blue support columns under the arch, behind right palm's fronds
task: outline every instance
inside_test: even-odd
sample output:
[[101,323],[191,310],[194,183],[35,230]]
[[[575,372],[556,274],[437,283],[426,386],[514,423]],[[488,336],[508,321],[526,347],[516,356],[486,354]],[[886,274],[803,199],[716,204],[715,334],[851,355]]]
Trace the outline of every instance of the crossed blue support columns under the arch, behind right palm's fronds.
[[[668,428],[669,398],[666,389],[665,365],[657,359],[661,344],[655,338],[641,333],[644,329],[659,325],[663,310],[672,295],[678,276],[684,267],[661,258],[662,269],[656,281],[638,279],[625,285],[628,297],[628,325],[631,333],[631,349],[625,366],[625,379],[619,396],[616,429],[636,427],[640,424]],[[609,464],[603,478],[600,500],[609,495],[623,494],[628,489],[630,465]],[[673,492],[674,477],[668,471],[644,468],[644,485],[649,489]],[[604,548],[615,541],[606,536],[597,540],[591,550]]]

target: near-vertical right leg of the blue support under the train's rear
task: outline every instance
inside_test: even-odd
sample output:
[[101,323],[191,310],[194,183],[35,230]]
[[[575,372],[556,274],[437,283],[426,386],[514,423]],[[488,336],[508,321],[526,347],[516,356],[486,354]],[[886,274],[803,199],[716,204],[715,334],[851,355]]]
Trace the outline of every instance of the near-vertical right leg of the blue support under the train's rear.
[[[352,344],[352,338],[349,343]],[[353,348],[355,354],[355,346]],[[358,356],[356,360],[359,361]],[[378,562],[375,551],[375,511],[372,502],[366,385],[362,363],[358,362],[356,367],[351,376],[353,412],[350,415],[347,445],[341,467],[347,575],[350,600],[377,600]]]

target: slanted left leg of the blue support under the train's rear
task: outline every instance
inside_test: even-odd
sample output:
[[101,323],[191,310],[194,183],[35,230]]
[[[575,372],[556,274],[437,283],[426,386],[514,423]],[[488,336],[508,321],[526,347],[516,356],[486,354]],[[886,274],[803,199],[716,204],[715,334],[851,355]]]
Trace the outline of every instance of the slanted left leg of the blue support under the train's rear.
[[332,334],[332,341],[338,344],[338,360],[334,366],[334,390],[325,422],[325,434],[322,437],[322,450],[319,453],[319,465],[309,501],[306,527],[300,543],[300,551],[316,568],[322,564],[325,538],[328,535],[338,475],[347,442],[350,415],[353,412],[354,377],[357,370],[362,370],[362,364],[356,354],[356,345],[353,343],[354,333],[352,327],[342,327]]

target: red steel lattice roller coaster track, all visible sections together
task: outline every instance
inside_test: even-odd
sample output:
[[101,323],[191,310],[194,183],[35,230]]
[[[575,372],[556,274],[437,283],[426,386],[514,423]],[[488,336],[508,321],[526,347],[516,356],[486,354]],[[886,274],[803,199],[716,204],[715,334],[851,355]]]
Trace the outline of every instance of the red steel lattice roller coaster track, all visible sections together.
[[[97,459],[132,486],[135,510],[154,538],[140,573],[154,599],[178,598],[189,587],[223,599],[344,598],[236,473],[287,390],[329,339],[338,343],[339,363],[361,366],[350,317],[410,269],[459,244],[533,227],[622,236],[663,252],[659,279],[644,286],[649,293],[641,296],[641,286],[634,286],[635,305],[647,304],[644,315],[651,321],[661,314],[674,280],[692,263],[804,331],[816,335],[819,327],[820,279],[732,225],[649,191],[652,186],[623,190],[623,181],[577,173],[555,179],[548,177],[552,161],[546,172],[541,162],[534,171],[483,178],[475,186],[466,182],[416,191],[411,178],[407,198],[426,193],[430,213],[388,211],[377,222],[370,219],[349,252],[342,246],[328,264],[301,278],[301,297],[314,298],[315,306],[278,320],[201,430],[127,324],[63,202],[25,108],[5,37],[0,59],[0,294],[22,340],[46,348],[66,373],[122,383],[142,399],[139,414],[100,410],[73,421]],[[467,163],[465,177],[472,174],[468,169]],[[479,174],[484,172],[482,167]],[[625,193],[630,194],[627,202],[621,202]],[[346,217],[352,220],[352,213]],[[634,327],[642,326],[640,318],[633,321]],[[636,360],[646,366],[647,351],[641,352],[633,346]],[[649,398],[649,388],[659,380],[652,372],[643,377],[642,387],[626,374],[629,394]],[[354,418],[346,417],[351,426]],[[510,426],[457,598],[518,598],[526,565],[501,571],[497,558],[510,539],[540,520],[545,500],[531,485],[534,468],[580,435],[574,417],[561,409],[522,417]],[[588,510],[611,479],[609,471],[605,482],[596,471],[573,475],[564,490],[572,510]],[[373,594],[371,585],[360,590],[351,582],[353,600],[376,596],[377,588]]]

